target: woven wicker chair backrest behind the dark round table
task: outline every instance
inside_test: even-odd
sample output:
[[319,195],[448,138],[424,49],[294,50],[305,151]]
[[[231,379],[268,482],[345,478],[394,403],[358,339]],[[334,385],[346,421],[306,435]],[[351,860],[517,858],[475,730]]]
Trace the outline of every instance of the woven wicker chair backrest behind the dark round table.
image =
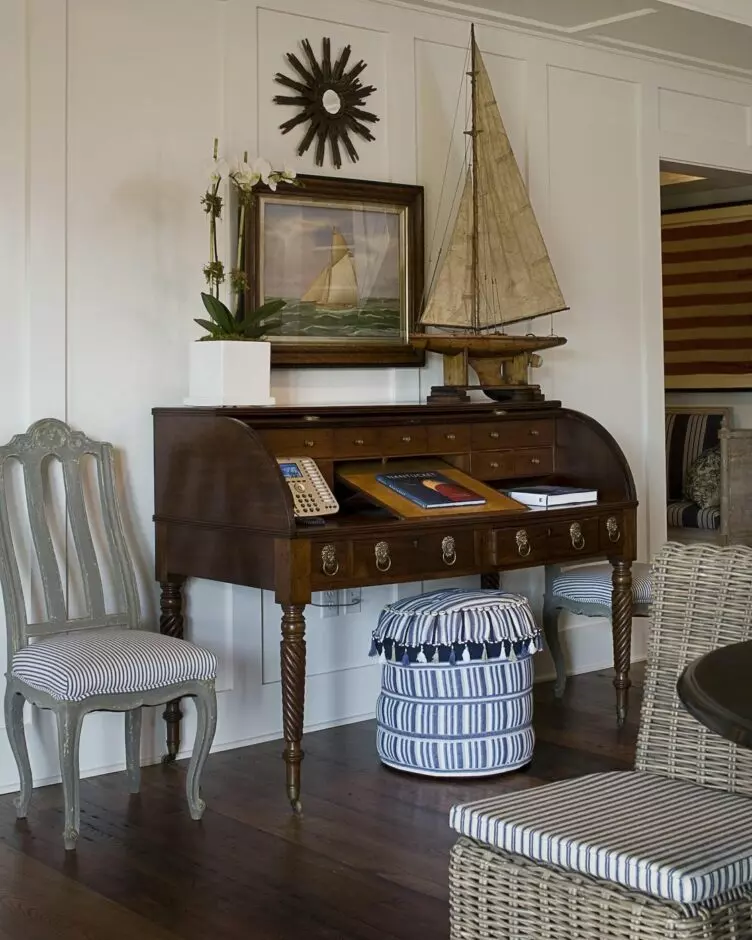
[[710,650],[752,638],[752,548],[668,542],[653,559],[635,768],[752,795],[752,751],[693,718],[676,682]]

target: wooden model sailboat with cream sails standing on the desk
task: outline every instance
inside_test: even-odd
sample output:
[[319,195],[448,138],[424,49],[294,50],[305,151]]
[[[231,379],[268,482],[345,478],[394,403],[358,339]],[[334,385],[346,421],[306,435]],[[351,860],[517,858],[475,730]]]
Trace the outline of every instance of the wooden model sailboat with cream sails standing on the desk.
[[560,346],[560,336],[512,336],[517,323],[566,310],[525,184],[514,158],[491,82],[470,40],[472,159],[466,168],[454,228],[435,274],[421,325],[447,332],[416,333],[413,346],[442,353],[444,385],[431,400],[467,400],[468,366],[491,398],[542,397],[528,384],[538,350]]

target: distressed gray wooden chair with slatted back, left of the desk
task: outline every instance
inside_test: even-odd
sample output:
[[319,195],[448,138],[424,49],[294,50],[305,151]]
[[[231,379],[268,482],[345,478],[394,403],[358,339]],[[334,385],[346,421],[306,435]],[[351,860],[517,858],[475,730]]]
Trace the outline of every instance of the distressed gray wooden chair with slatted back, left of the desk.
[[[94,496],[87,493],[82,458],[96,466]],[[55,553],[45,484],[47,462],[57,459],[65,485],[66,516],[71,538],[68,560],[78,558],[85,613],[70,617],[67,582]],[[22,546],[15,544],[8,500],[10,464],[18,461],[28,508],[29,528],[44,593],[45,614],[29,622],[19,569]],[[112,570],[108,610],[89,509],[101,519]],[[15,518],[15,516],[13,517]],[[16,533],[17,536],[17,533]],[[27,566],[22,566],[26,570]],[[67,569],[70,571],[70,568]],[[128,555],[115,491],[112,445],[89,440],[54,419],[37,421],[25,434],[0,447],[0,587],[8,632],[5,724],[18,765],[21,792],[16,799],[25,817],[33,786],[23,723],[24,700],[52,709],[57,718],[60,769],[65,802],[65,848],[73,849],[79,830],[78,750],[84,716],[92,711],[125,712],[125,756],[130,790],[140,781],[141,707],[181,696],[196,701],[198,728],[188,768],[186,791],[191,816],[200,819],[201,771],[214,739],[217,706],[214,692],[216,658],[193,643],[140,629],[136,579]]]

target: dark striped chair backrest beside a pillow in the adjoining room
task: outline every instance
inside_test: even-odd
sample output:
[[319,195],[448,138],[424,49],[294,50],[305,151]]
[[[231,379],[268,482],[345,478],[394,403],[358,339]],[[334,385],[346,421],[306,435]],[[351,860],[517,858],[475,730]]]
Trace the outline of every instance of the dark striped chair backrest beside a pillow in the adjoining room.
[[666,498],[683,499],[687,472],[731,427],[730,408],[666,408]]

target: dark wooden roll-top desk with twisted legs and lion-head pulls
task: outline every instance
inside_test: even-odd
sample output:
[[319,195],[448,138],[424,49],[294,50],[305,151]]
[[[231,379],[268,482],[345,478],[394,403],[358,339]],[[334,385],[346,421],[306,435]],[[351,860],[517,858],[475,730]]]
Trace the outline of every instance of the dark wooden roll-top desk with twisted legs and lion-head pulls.
[[[624,455],[592,418],[559,402],[157,408],[153,414],[161,629],[182,636],[181,587],[188,577],[274,591],[282,605],[284,759],[294,807],[303,758],[304,610],[314,591],[476,573],[493,586],[500,570],[605,556],[614,568],[614,685],[624,720],[637,502]],[[324,526],[296,520],[275,460],[301,455],[314,458],[340,502],[340,513]],[[441,457],[495,484],[595,486],[599,502],[400,519],[335,482],[340,462],[421,456]],[[447,537],[449,554],[442,549]],[[178,703],[168,706],[165,719],[169,759],[179,746]]]

